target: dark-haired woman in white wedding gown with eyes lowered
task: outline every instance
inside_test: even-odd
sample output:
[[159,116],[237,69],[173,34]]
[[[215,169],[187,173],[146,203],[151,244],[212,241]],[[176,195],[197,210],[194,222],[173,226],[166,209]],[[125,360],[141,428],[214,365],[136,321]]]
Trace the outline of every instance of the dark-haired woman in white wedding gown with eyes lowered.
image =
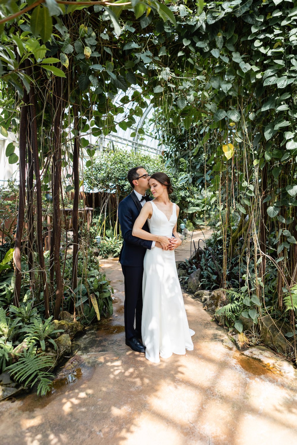
[[[156,242],[156,247],[146,251],[143,263],[141,333],[146,358],[158,363],[159,356],[191,351],[195,332],[189,329],[175,265],[174,249],[181,244],[176,231],[179,206],[169,199],[173,189],[167,174],[152,174],[149,185],[154,199],[142,207],[132,235]],[[151,233],[142,230],[146,219]],[[165,246],[166,239],[167,245],[161,249],[159,243]]]

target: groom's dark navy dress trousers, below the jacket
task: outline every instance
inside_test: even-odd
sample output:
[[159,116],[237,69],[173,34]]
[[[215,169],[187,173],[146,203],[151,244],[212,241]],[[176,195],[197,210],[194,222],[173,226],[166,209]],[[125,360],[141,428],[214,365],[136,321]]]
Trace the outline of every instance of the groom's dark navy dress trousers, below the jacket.
[[134,320],[136,320],[136,331],[141,332],[143,264],[139,267],[122,265],[122,271],[125,282],[125,334],[129,340],[135,337]]

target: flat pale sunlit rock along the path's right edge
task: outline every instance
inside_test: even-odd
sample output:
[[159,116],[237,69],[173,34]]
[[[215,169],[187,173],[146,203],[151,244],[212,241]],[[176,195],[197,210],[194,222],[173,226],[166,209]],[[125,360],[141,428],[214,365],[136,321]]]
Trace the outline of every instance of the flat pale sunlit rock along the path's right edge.
[[293,367],[293,364],[281,359],[281,357],[277,356],[273,351],[269,351],[265,346],[248,348],[243,354],[252,357],[253,359],[260,360],[265,368],[270,369],[273,372],[285,376],[297,377],[297,370]]

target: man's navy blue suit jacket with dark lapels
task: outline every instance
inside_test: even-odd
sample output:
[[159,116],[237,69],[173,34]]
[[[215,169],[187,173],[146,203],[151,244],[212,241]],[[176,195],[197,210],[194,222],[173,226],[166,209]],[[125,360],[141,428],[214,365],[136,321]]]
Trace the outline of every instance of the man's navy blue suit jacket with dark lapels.
[[[150,198],[151,200],[152,198]],[[121,225],[122,237],[124,239],[119,262],[123,266],[141,266],[143,264],[146,249],[151,249],[152,241],[140,239],[132,235],[132,229],[138,217],[142,205],[134,191],[126,196],[118,205],[118,219]],[[149,232],[148,223],[144,224],[143,230]]]

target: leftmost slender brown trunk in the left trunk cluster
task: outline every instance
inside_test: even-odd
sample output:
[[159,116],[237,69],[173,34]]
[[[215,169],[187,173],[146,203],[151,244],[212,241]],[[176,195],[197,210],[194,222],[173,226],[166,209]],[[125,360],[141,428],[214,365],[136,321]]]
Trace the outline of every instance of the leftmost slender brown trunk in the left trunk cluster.
[[20,247],[23,238],[24,230],[24,213],[25,213],[25,199],[26,199],[26,130],[28,118],[28,94],[24,91],[24,104],[20,111],[20,192],[19,192],[19,211],[17,215],[16,225],[16,243],[14,251],[14,264],[16,268],[16,281],[14,285],[14,299],[13,304],[16,307],[20,306],[20,287],[22,282],[22,267],[21,267],[21,252]]

